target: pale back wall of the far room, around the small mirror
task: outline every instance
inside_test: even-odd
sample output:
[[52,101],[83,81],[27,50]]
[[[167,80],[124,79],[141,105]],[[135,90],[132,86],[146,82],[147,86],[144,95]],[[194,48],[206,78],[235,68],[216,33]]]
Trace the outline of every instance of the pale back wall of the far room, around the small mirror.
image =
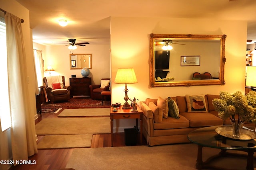
[[[86,45],[85,47],[78,46],[77,49],[70,51],[64,45],[44,46],[33,43],[34,49],[42,50],[44,59],[44,70],[48,65],[51,65],[55,72],[51,75],[60,74],[65,76],[65,85],[69,85],[69,78],[72,74],[76,74],[77,78],[81,78],[81,69],[70,69],[70,57],[74,54],[92,54],[92,69],[90,75],[92,84],[100,84],[101,78],[110,78],[110,53],[109,45]],[[49,76],[45,72],[45,76]]]

